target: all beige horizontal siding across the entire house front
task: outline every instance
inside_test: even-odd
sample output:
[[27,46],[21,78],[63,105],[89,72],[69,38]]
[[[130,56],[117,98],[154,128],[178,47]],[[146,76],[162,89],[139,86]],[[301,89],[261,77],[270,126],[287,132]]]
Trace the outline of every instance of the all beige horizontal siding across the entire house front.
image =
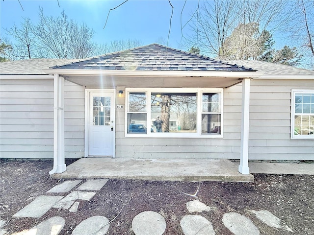
[[[53,80],[1,79],[0,85],[0,158],[52,158]],[[239,159],[241,89],[224,89],[222,139],[126,138],[125,98],[117,97],[124,109],[116,109],[116,157]],[[314,140],[290,139],[291,89],[314,89],[314,83],[251,81],[250,160],[314,160]],[[66,158],[84,156],[84,92],[65,81]]]

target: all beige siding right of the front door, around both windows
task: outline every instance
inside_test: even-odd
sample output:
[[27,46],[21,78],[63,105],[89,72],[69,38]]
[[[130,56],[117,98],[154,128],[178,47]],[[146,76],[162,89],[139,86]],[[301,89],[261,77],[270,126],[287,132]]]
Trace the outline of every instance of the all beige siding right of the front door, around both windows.
[[[290,140],[291,89],[313,89],[313,80],[251,81],[250,160],[314,160],[314,140]],[[127,107],[116,110],[116,158],[239,159],[241,91],[241,84],[224,89],[222,139],[126,138]],[[125,105],[125,98],[117,104]]]

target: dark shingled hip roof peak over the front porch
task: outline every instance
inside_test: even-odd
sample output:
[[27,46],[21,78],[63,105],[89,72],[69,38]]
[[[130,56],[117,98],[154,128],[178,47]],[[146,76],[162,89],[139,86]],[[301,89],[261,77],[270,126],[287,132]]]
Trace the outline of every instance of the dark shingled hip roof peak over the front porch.
[[51,69],[130,71],[255,71],[182,50],[150,44],[54,66]]

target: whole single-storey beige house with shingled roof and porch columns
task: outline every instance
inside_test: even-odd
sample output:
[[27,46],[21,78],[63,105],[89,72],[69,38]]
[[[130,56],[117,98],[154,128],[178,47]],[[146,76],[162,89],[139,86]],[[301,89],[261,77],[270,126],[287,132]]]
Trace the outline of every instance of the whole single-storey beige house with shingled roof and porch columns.
[[114,157],[240,159],[247,174],[248,160],[314,160],[314,71],[157,44],[3,62],[0,118],[0,157],[54,158],[51,173]]

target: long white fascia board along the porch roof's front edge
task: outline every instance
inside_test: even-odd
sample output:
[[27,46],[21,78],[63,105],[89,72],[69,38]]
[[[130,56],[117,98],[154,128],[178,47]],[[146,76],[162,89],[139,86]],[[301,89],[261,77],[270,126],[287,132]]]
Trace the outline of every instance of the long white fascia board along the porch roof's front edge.
[[115,76],[159,76],[159,77],[239,77],[256,78],[262,73],[252,71],[138,71],[138,70],[69,70],[47,69],[49,74],[60,75],[115,75]]

